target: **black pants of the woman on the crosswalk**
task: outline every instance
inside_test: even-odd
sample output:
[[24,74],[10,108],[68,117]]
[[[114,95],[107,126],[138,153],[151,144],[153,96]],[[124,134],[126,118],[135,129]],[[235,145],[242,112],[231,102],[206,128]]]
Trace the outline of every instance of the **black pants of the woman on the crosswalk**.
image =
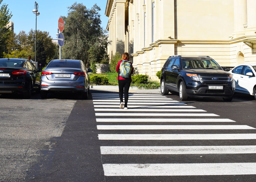
[[124,94],[124,107],[127,107],[128,103],[128,92],[131,85],[130,79],[125,80],[118,80],[118,87],[119,87],[119,98],[120,102],[123,102],[123,94]]

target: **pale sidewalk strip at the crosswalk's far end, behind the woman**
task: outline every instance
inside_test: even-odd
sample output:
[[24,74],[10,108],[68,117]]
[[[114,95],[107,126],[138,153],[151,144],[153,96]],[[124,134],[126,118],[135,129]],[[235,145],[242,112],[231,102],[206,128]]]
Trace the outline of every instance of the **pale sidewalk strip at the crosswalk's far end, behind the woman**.
[[[118,86],[91,85],[90,90],[118,92]],[[160,88],[158,88],[158,89],[138,89],[137,87],[130,87],[129,92],[130,93],[145,93],[145,94],[161,94]]]

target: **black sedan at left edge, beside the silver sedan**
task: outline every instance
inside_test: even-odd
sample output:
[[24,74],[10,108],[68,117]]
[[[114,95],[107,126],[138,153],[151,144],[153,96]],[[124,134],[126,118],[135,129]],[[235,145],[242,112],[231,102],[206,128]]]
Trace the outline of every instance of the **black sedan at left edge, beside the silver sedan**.
[[0,59],[0,93],[16,93],[30,98],[32,91],[40,91],[39,71],[27,59]]

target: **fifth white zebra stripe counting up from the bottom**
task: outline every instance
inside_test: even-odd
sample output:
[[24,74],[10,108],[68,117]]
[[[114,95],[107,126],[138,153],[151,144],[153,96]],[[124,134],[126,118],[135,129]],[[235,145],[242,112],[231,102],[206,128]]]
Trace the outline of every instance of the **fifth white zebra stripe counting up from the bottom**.
[[97,122],[235,122],[231,119],[195,118],[96,118]]

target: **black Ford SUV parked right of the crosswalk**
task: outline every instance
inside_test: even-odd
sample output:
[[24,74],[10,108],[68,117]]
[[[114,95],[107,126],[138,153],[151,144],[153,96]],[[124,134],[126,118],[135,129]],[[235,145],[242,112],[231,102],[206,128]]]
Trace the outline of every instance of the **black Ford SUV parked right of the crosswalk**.
[[170,56],[161,71],[162,95],[176,91],[180,100],[222,97],[231,101],[234,90],[232,75],[209,56]]

